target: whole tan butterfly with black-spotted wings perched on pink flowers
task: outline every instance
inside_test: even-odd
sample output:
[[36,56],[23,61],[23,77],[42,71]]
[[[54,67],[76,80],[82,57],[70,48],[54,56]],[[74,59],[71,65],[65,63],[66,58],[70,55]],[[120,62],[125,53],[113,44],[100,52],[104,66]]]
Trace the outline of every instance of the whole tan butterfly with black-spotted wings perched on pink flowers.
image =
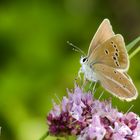
[[80,59],[80,73],[84,78],[99,81],[108,92],[121,100],[131,101],[138,96],[132,79],[126,73],[129,58],[123,36],[114,34],[108,19],[104,19],[95,33],[88,54]]

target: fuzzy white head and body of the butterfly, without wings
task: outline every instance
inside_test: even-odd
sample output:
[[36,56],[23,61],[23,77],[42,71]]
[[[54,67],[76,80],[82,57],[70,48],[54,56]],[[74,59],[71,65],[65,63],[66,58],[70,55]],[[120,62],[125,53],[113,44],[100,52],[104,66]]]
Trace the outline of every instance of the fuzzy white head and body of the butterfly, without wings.
[[80,63],[82,65],[80,72],[84,73],[85,79],[94,82],[98,81],[94,68],[88,64],[88,59],[86,57],[81,58]]

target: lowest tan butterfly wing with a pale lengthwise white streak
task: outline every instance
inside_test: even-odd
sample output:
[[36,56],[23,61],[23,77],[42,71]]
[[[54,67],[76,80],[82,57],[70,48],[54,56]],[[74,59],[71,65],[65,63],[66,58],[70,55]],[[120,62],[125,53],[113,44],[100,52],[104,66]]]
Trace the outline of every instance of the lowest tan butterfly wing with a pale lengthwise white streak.
[[101,85],[116,97],[126,101],[137,98],[137,90],[126,74],[104,64],[95,64],[94,71]]

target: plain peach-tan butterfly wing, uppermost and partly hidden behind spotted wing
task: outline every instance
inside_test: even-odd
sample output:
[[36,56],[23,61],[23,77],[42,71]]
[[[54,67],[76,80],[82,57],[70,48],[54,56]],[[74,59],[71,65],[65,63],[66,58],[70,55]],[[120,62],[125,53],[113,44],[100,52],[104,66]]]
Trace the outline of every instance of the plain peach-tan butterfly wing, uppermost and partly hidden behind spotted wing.
[[108,19],[104,19],[101,25],[99,26],[97,32],[95,33],[88,50],[88,56],[92,51],[99,45],[114,36],[112,26]]

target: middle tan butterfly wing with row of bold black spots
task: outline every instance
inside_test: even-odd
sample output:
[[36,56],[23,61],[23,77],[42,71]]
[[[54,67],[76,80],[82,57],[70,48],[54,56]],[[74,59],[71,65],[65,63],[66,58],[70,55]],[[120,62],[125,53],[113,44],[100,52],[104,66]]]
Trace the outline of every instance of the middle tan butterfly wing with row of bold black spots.
[[127,71],[129,59],[122,35],[117,34],[96,47],[88,60],[89,65],[102,63],[122,71]]

